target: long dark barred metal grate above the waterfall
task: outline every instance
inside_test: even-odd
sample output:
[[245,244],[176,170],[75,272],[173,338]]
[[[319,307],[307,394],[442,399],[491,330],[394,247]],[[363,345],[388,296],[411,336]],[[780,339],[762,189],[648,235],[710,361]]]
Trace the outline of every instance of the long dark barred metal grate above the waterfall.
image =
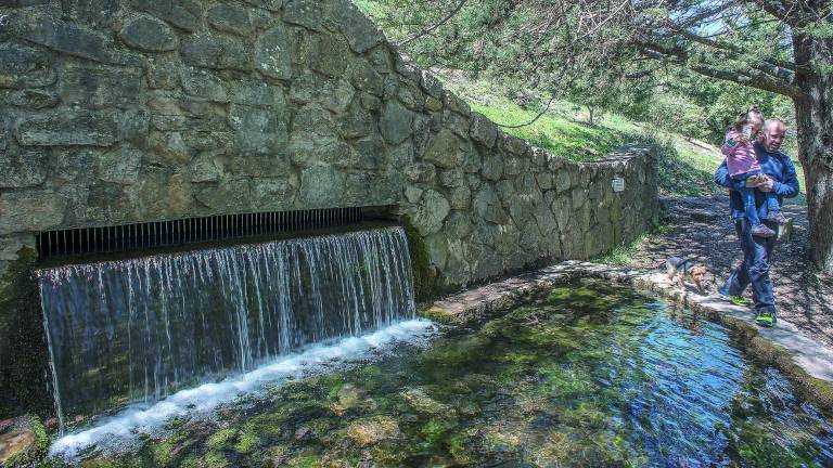
[[358,224],[363,219],[362,208],[220,214],[106,227],[46,231],[37,235],[37,245],[39,257],[47,259],[325,229]]

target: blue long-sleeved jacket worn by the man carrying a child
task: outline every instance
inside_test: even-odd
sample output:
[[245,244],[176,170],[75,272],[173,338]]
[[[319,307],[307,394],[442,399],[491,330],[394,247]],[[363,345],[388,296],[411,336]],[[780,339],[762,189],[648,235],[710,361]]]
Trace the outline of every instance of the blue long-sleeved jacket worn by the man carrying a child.
[[[755,142],[755,155],[758,157],[761,172],[772,178],[774,184],[772,192],[778,195],[778,202],[783,205],[784,198],[791,198],[798,195],[798,177],[795,173],[795,166],[790,156],[777,151],[769,153],[760,142]],[[715,172],[715,182],[727,188],[729,192],[729,207],[732,209],[732,218],[746,218],[743,211],[743,199],[740,188],[746,185],[746,181],[732,180],[729,177],[729,169],[723,164]],[[767,198],[764,192],[755,190],[755,205],[758,207],[758,217],[767,218]]]

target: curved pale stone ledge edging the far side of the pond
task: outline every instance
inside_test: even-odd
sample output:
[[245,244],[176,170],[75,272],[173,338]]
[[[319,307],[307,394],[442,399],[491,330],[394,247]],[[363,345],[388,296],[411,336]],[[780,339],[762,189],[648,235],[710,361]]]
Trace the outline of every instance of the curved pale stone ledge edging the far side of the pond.
[[795,325],[782,320],[773,328],[758,327],[748,308],[733,306],[717,295],[701,296],[688,288],[682,291],[661,272],[566,261],[449,296],[420,314],[469,326],[522,303],[534,292],[575,277],[606,278],[651,290],[727,326],[741,338],[751,359],[776,366],[796,385],[802,396],[833,411],[833,349],[804,336]]

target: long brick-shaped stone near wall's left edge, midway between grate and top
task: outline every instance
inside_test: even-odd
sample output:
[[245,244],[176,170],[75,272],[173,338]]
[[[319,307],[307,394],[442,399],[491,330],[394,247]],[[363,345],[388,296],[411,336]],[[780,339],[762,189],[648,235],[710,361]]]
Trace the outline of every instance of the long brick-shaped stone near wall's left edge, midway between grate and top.
[[112,114],[51,112],[23,117],[16,125],[24,146],[110,146],[117,134]]

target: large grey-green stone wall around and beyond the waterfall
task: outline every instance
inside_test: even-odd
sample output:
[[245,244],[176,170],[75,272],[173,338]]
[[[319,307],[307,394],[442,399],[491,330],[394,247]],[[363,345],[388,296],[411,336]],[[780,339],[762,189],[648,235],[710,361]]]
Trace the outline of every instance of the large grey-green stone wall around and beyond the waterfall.
[[346,0],[7,0],[0,16],[0,300],[42,230],[392,205],[451,287],[587,258],[656,213],[652,150],[533,150]]

